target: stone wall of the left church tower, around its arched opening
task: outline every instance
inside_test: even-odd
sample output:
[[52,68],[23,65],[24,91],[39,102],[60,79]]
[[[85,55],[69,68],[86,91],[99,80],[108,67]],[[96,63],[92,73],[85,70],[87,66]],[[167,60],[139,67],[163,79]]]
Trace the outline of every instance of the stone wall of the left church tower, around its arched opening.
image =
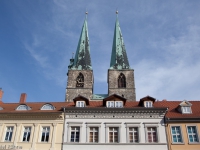
[[[84,87],[76,87],[76,78],[79,73],[84,76]],[[92,98],[93,94],[93,71],[92,70],[69,70],[68,81],[66,88],[65,101],[71,102],[78,95],[82,95],[88,99]]]

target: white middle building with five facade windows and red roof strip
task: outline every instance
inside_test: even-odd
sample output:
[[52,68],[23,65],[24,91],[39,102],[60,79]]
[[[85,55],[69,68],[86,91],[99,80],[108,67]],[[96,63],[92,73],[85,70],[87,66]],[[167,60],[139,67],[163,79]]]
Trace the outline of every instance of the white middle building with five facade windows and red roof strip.
[[[113,99],[120,102],[120,97]],[[167,108],[156,106],[156,102],[152,107],[139,106],[141,100],[123,101],[117,108],[99,101],[88,101],[80,107],[81,101],[65,108],[63,150],[167,150],[163,120]]]

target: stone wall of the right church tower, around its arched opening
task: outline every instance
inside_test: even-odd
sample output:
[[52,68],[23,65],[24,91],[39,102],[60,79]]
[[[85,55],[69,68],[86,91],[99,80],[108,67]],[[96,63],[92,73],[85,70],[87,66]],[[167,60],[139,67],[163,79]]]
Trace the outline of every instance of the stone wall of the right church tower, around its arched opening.
[[[126,88],[118,88],[118,77],[123,73],[126,77]],[[108,70],[108,95],[124,95],[127,100],[136,101],[134,70]]]

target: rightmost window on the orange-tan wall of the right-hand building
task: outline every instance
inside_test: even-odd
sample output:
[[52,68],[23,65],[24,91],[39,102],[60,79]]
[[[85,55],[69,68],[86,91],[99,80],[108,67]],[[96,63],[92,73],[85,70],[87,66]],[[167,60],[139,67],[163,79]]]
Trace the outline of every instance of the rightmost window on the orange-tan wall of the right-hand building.
[[191,143],[199,142],[196,126],[188,126],[187,132],[188,132],[189,142],[191,142]]

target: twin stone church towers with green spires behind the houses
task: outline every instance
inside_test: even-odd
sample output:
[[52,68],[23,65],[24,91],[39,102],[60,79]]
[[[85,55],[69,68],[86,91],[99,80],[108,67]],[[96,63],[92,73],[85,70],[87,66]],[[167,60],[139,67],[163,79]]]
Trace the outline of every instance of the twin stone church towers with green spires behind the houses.
[[93,70],[87,26],[87,12],[79,38],[75,57],[68,66],[68,82],[65,101],[73,101],[78,96],[89,100],[102,100],[113,94],[127,100],[136,101],[134,70],[130,68],[126,49],[118,21],[118,11],[112,45],[110,68],[108,69],[108,94],[93,94]]

